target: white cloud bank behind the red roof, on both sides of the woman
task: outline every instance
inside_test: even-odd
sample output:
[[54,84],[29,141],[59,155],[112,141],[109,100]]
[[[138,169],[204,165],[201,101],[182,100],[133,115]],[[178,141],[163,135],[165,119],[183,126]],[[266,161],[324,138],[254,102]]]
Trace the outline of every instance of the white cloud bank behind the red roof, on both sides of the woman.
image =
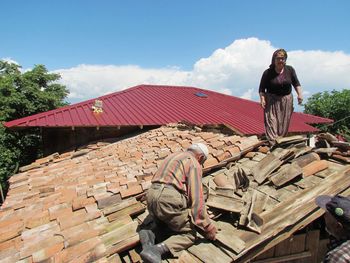
[[[85,100],[139,84],[195,86],[247,99],[258,99],[263,71],[276,49],[257,38],[235,40],[198,60],[191,71],[179,68],[141,68],[135,65],[79,65],[56,70],[71,94]],[[288,51],[288,64],[298,74],[305,97],[325,90],[350,87],[350,55],[319,50]]]

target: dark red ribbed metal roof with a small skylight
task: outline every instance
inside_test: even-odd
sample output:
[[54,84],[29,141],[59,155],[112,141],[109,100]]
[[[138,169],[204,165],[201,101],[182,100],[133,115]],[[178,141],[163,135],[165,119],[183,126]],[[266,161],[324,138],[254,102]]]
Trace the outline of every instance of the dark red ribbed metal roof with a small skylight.
[[[95,127],[163,125],[188,121],[197,125],[225,124],[242,134],[263,134],[259,103],[195,87],[140,85],[97,98],[103,112],[92,110],[95,99],[5,123],[15,127]],[[290,132],[315,132],[308,123],[330,119],[294,113]]]

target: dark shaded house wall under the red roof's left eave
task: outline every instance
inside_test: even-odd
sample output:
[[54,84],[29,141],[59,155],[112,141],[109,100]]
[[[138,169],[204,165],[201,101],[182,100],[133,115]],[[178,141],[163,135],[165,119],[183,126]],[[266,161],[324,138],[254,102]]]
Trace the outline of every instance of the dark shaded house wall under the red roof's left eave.
[[44,156],[58,152],[76,149],[90,142],[113,139],[121,136],[132,135],[137,132],[144,132],[158,126],[125,126],[125,127],[71,127],[66,128],[43,128],[43,151]]

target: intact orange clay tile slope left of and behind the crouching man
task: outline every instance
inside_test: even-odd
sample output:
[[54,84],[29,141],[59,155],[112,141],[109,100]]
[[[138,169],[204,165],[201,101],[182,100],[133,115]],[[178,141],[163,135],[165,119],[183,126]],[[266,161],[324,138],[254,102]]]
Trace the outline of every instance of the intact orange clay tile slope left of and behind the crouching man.
[[[0,209],[0,262],[120,261],[139,243],[142,215],[135,216],[146,209],[139,200],[160,162],[196,142],[209,147],[207,172],[261,144],[256,136],[173,124],[22,167]],[[135,250],[129,256],[138,258]]]

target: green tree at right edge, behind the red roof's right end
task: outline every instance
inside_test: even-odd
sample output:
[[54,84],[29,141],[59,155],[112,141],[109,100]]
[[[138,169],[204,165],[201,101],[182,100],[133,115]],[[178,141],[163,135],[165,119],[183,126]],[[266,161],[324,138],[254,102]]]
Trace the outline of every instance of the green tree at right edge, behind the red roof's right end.
[[333,119],[333,124],[320,125],[319,128],[340,134],[350,141],[350,90],[316,93],[308,99],[304,112]]

